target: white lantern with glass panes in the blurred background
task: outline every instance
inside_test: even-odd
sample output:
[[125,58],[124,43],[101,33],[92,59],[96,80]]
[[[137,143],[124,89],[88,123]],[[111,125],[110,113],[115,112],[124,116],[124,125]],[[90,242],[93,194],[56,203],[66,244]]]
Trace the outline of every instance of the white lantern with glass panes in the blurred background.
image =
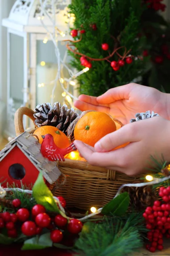
[[[57,61],[49,34],[54,33],[55,27],[61,58],[65,59],[67,49],[62,40],[70,39],[69,26],[74,18],[68,14],[70,3],[71,0],[17,0],[9,17],[3,19],[8,37],[7,136],[15,136],[13,120],[17,108],[27,106],[34,109],[37,104],[49,102],[52,97],[54,84],[48,83],[56,78]],[[43,15],[42,5],[46,15]],[[67,78],[68,74],[63,76]],[[48,85],[45,86],[46,83]],[[53,91],[54,101],[61,102],[62,92],[57,82]],[[25,117],[24,127],[29,126]]]

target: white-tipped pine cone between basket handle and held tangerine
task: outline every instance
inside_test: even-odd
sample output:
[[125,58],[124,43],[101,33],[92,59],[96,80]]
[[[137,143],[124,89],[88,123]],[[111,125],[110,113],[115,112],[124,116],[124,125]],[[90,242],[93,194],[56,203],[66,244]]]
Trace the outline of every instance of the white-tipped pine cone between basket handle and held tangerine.
[[[53,107],[50,103],[37,105],[34,112],[34,117],[36,118],[34,124],[36,126],[55,126],[65,134],[67,134],[66,131],[70,123],[78,116],[73,108],[68,109],[67,105],[61,106],[59,102],[54,103]],[[72,136],[73,134],[71,134]]]

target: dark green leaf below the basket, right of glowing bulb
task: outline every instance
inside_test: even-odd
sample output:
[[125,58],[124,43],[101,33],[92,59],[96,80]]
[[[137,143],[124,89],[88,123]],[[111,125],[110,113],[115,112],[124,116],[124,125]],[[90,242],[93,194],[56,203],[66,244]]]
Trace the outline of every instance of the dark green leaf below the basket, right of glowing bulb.
[[118,195],[116,198],[111,200],[102,209],[104,215],[124,215],[129,207],[130,198],[127,192]]

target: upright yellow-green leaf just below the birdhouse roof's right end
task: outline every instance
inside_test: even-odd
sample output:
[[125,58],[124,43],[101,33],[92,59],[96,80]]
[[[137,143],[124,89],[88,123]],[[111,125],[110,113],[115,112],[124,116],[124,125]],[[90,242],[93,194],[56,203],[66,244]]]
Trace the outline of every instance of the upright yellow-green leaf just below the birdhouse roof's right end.
[[59,208],[53,198],[51,191],[45,185],[42,173],[38,175],[33,187],[33,197],[37,204],[42,204],[46,210],[52,212],[59,212]]

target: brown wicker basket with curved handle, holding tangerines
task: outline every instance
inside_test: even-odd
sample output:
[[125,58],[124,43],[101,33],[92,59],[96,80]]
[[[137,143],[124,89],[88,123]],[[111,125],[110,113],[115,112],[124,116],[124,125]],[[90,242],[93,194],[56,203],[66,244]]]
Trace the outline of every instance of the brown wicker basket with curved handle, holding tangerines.
[[[19,108],[15,113],[16,136],[24,132],[23,115],[34,121],[34,111],[29,108]],[[87,162],[65,159],[65,162],[58,161],[57,166],[66,177],[62,183],[61,175],[56,183],[50,185],[52,193],[56,196],[62,195],[69,207],[88,210],[92,206],[99,208],[107,204],[116,194],[122,184],[135,183],[140,180],[138,177],[129,177],[125,174],[108,170],[98,166],[91,166]]]

